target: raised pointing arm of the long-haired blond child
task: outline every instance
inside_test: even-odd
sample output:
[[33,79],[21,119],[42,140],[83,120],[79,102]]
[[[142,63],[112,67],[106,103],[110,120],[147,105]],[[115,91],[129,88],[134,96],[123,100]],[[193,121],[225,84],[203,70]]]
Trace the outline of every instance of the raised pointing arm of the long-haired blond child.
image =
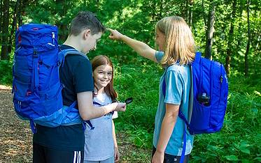
[[115,29],[108,29],[108,31],[111,31],[111,35],[109,36],[109,38],[113,40],[122,40],[127,45],[129,45],[129,47],[132,47],[132,49],[134,49],[134,51],[137,52],[140,56],[157,62],[155,58],[156,50],[146,45],[146,43],[129,38],[128,36],[123,35]]

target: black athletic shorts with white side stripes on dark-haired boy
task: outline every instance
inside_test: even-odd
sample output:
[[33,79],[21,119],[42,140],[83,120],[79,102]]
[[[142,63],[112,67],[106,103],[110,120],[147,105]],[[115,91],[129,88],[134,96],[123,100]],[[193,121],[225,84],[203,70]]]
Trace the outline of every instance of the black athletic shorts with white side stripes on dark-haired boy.
[[33,145],[34,163],[83,163],[84,151],[55,150],[37,143]]

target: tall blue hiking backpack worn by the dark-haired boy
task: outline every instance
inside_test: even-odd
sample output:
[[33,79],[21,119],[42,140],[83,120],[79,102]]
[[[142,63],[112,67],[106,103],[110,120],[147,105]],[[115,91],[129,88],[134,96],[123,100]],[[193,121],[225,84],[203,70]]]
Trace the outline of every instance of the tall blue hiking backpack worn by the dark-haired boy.
[[59,67],[68,54],[87,56],[73,49],[60,51],[57,33],[57,26],[48,24],[25,24],[15,33],[13,104],[16,114],[30,121],[34,133],[34,123],[46,127],[83,123],[74,108],[76,101],[63,106]]

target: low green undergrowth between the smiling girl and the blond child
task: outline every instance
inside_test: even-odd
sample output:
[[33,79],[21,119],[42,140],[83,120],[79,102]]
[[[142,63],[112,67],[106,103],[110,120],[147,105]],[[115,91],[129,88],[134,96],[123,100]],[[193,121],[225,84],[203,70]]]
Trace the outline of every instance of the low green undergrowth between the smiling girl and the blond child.
[[146,62],[115,66],[115,88],[120,100],[132,97],[125,113],[115,120],[117,130],[127,130],[129,139],[140,148],[151,148],[154,116],[157,109],[160,67]]

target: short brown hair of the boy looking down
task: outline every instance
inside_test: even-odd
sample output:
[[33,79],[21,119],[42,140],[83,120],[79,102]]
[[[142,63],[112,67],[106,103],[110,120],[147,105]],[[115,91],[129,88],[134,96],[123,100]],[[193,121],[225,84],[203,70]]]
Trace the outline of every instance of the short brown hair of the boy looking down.
[[90,29],[92,35],[99,32],[104,33],[105,27],[99,19],[90,11],[80,11],[73,18],[69,27],[69,36],[78,36],[83,30]]

